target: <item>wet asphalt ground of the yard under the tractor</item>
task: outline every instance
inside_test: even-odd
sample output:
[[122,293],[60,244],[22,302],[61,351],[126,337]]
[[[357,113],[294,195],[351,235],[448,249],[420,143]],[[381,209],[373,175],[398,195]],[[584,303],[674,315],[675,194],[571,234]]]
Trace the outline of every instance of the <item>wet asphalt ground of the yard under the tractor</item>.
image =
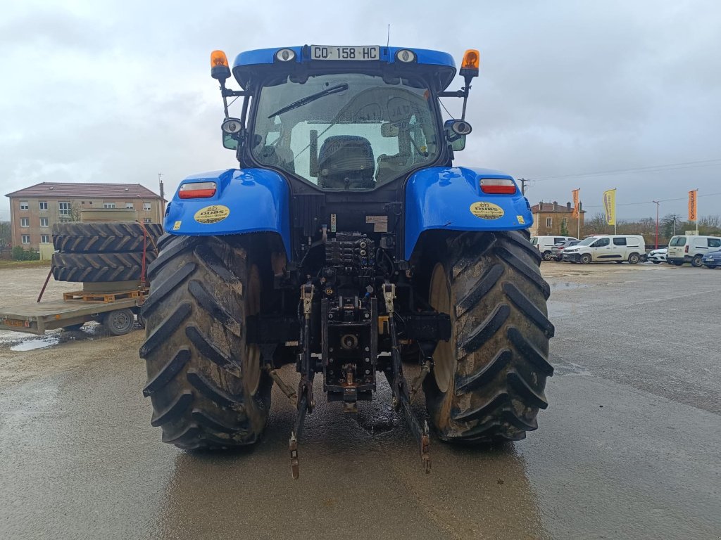
[[[12,297],[46,271],[0,279]],[[483,450],[434,438],[428,475],[386,385],[358,420],[319,400],[291,481],[280,392],[255,449],[189,454],[149,425],[141,331],[0,333],[0,538],[720,538],[721,270],[543,271],[539,430]]]

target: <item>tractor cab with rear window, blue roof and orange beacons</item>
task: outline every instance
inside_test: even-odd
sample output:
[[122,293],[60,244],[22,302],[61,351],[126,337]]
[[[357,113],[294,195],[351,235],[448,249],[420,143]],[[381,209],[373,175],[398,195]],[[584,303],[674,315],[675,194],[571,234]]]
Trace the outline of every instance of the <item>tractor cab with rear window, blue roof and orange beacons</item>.
[[[224,98],[249,100],[241,117],[224,122],[224,145],[242,165],[273,168],[296,183],[367,192],[449,164],[448,144],[461,150],[470,132],[464,121],[443,125],[438,96],[456,75],[446,53],[319,45],[254,50],[233,66],[241,92],[225,89],[227,60],[214,55]],[[477,73],[477,61],[477,51],[466,53],[464,70]]]

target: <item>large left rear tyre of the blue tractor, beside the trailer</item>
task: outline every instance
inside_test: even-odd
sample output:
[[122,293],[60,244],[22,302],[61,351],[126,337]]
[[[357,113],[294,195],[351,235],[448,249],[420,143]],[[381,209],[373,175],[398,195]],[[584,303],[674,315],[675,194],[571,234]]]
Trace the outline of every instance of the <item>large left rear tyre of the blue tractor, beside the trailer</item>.
[[149,269],[143,303],[151,425],[182,449],[254,444],[265,428],[272,381],[245,318],[260,311],[260,271],[237,237],[175,236]]

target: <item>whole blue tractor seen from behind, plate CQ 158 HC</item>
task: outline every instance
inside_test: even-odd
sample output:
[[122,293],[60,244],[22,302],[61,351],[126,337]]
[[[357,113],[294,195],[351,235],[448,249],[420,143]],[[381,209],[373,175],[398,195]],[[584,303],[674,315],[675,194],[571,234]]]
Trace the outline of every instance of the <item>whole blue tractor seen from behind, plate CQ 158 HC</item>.
[[[351,414],[383,374],[426,470],[416,393],[443,441],[517,441],[537,428],[554,327],[531,210],[508,174],[453,164],[478,69],[466,51],[464,86],[448,91],[454,60],[433,50],[262,49],[232,70],[211,54],[239,168],[182,181],[149,267],[144,394],[164,442],[254,444],[275,382],[298,408],[297,477],[316,374]],[[226,88],[231,75],[242,90]],[[463,99],[461,119],[443,121],[443,97]],[[242,99],[236,117],[229,98]],[[297,388],[280,377],[285,364]]]

